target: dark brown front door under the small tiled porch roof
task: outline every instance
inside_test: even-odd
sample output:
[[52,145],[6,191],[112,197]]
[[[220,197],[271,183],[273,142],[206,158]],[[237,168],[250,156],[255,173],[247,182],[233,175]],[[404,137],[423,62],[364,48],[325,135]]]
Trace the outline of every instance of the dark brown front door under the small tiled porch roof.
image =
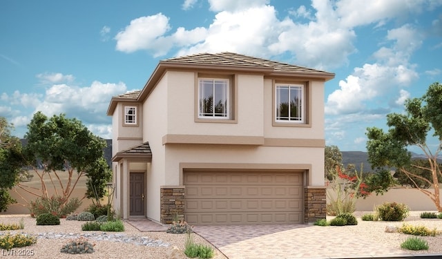
[[131,173],[131,211],[129,215],[144,215],[144,173]]

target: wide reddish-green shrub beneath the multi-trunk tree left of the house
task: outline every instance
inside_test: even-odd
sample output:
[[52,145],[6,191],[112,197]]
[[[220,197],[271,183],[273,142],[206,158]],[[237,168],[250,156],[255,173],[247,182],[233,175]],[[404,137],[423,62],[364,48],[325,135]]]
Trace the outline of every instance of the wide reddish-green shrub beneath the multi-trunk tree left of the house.
[[78,198],[71,198],[65,204],[64,198],[52,195],[50,198],[37,198],[35,201],[29,202],[28,209],[32,217],[37,217],[42,213],[52,213],[61,218],[73,213],[80,205],[81,201]]

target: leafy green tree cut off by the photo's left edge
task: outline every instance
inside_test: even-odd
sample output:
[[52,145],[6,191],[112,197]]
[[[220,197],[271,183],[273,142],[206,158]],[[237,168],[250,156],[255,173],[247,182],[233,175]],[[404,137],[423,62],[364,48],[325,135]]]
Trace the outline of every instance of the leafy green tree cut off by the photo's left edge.
[[9,204],[16,202],[9,190],[17,183],[23,165],[21,142],[11,136],[13,128],[5,117],[0,117],[0,211],[6,211]]

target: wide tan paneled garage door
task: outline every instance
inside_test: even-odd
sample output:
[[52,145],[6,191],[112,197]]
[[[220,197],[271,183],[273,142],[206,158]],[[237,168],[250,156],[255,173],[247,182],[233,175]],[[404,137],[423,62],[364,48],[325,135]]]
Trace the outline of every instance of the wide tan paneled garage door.
[[302,222],[302,172],[184,170],[189,224]]

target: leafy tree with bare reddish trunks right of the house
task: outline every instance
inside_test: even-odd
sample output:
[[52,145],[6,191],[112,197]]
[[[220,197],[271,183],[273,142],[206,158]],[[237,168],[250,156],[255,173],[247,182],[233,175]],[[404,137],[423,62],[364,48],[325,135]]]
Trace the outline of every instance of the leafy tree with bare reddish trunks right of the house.
[[[431,84],[422,97],[407,99],[405,113],[388,114],[387,126],[387,132],[381,128],[367,128],[369,162],[379,169],[383,166],[395,167],[396,171],[406,175],[417,189],[434,202],[438,211],[442,211],[439,189],[442,173],[441,164],[437,161],[442,149],[442,84]],[[439,140],[435,151],[427,144],[430,131]],[[428,164],[412,160],[407,150],[410,146],[420,148]],[[416,173],[410,168],[421,169],[428,175],[425,177],[423,173]],[[423,189],[416,179],[426,182],[434,190]]]

